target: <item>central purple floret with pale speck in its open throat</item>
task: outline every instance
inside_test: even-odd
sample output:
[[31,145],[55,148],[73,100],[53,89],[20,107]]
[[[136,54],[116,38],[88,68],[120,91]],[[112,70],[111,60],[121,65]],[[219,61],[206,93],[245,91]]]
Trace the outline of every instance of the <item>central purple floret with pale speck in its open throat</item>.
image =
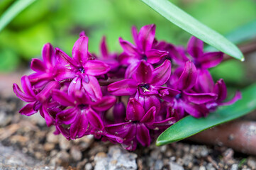
[[[116,96],[134,95],[137,91],[143,95],[157,95],[162,89],[161,86],[169,79],[170,74],[171,62],[169,60],[165,60],[156,69],[142,60],[138,63],[131,79],[123,79],[108,85],[108,91]],[[179,91],[174,89],[169,89],[169,91],[174,96],[179,94]]]

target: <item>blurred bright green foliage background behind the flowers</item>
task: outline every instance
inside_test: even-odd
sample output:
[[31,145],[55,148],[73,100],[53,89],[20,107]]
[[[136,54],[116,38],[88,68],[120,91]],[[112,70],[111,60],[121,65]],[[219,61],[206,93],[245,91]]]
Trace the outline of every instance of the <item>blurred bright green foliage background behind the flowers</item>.
[[[202,23],[225,35],[234,28],[256,19],[255,0],[172,0],[174,4]],[[13,4],[0,1],[0,15]],[[98,53],[99,42],[106,35],[110,50],[121,51],[118,37],[132,41],[130,27],[157,25],[158,40],[186,45],[189,33],[169,23],[140,0],[37,0],[21,12],[0,33],[0,72],[13,72],[40,57],[43,44],[51,42],[72,52],[72,46],[84,30],[89,37],[89,51]],[[232,68],[236,68],[235,71]],[[227,81],[244,78],[243,64],[226,62],[217,71]],[[216,70],[215,69],[215,70]],[[236,77],[233,77],[233,74]],[[219,77],[217,72],[216,77]],[[225,75],[226,74],[226,75]],[[232,76],[230,76],[232,75]]]

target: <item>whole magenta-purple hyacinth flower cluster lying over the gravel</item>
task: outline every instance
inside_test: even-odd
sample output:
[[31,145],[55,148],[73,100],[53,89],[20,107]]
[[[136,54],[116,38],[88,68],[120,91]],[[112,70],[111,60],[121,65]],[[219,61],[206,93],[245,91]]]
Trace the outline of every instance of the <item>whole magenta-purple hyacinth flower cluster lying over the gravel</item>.
[[133,27],[134,44],[119,38],[123,52],[108,52],[106,38],[100,54],[88,51],[88,37],[80,33],[72,57],[50,43],[42,60],[33,59],[34,73],[21,78],[18,98],[28,104],[23,115],[40,113],[55,134],[75,140],[94,135],[134,150],[148,147],[157,135],[184,116],[206,117],[224,101],[223,79],[214,83],[209,68],[223,60],[222,52],[204,52],[204,42],[192,37],[187,47],[155,38],[155,25]]

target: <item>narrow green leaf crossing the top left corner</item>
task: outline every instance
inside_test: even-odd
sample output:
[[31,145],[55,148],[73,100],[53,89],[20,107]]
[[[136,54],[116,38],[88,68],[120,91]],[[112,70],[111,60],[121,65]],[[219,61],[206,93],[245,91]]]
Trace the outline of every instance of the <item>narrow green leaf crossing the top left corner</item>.
[[24,8],[29,6],[35,0],[18,0],[15,1],[0,18],[0,32],[3,30],[18,13],[21,13]]

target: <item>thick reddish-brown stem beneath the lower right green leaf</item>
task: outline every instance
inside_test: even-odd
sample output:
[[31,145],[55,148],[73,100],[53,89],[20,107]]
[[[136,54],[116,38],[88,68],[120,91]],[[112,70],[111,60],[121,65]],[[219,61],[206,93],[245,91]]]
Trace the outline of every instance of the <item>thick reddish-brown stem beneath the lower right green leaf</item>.
[[209,145],[224,145],[235,151],[256,155],[256,122],[236,120],[205,130],[189,140]]

